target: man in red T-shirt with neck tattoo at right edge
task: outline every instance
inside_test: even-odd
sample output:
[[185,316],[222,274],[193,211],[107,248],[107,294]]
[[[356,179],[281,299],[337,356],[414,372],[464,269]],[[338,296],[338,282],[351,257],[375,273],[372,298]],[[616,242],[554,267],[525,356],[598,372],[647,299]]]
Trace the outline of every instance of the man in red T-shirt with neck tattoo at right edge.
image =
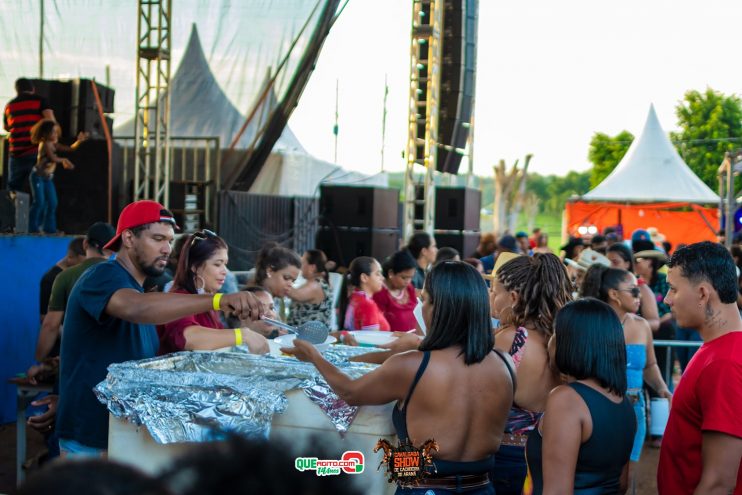
[[660,451],[660,495],[742,495],[742,318],[729,252],[700,242],[668,264],[665,302],[678,326],[697,329],[703,346],[673,397]]

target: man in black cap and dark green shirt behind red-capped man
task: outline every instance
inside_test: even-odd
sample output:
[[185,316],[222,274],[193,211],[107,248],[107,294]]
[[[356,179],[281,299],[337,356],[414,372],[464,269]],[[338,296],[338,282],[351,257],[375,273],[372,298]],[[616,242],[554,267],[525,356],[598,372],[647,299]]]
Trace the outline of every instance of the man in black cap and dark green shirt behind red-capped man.
[[49,298],[49,309],[41,324],[39,339],[36,341],[36,360],[42,361],[46,357],[59,355],[59,335],[62,328],[64,310],[67,308],[67,300],[72,292],[75,282],[91,266],[105,261],[112,252],[103,249],[113,239],[116,231],[113,225],[105,222],[97,222],[90,226],[88,234],[83,241],[85,260],[60,273],[52,285],[52,293]]

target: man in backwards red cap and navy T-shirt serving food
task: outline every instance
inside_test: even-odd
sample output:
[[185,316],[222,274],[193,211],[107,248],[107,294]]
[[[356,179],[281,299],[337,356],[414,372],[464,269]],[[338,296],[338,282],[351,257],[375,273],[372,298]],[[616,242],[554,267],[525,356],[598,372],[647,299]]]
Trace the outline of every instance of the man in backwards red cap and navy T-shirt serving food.
[[155,325],[211,309],[257,319],[264,308],[249,292],[144,293],[147,276],[162,274],[170,255],[173,214],[155,201],[131,203],[104,248],[116,259],[88,269],[67,302],[60,366],[57,432],[62,456],[100,456],[108,446],[108,411],[93,388],[112,363],[154,357]]

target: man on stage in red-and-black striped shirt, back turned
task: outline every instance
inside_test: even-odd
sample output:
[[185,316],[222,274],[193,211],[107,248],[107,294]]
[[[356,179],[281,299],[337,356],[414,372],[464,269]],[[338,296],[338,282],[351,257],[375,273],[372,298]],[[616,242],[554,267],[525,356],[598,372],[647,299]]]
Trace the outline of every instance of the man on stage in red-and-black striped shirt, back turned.
[[31,127],[41,119],[54,119],[54,111],[48,102],[36,94],[28,79],[15,82],[18,96],[5,105],[3,127],[10,133],[10,178],[7,188],[13,191],[28,189],[28,177],[36,164],[37,146],[31,142]]

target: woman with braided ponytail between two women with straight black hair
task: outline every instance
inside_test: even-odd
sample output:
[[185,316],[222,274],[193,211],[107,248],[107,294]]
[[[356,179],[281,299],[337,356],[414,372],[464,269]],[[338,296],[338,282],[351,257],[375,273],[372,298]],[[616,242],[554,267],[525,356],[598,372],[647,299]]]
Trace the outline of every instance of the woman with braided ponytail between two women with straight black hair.
[[490,287],[492,316],[500,320],[495,347],[515,362],[518,387],[497,452],[495,492],[520,494],[526,478],[525,445],[551,389],[560,384],[547,343],[557,311],[572,299],[567,271],[558,257],[537,253],[502,265]]

